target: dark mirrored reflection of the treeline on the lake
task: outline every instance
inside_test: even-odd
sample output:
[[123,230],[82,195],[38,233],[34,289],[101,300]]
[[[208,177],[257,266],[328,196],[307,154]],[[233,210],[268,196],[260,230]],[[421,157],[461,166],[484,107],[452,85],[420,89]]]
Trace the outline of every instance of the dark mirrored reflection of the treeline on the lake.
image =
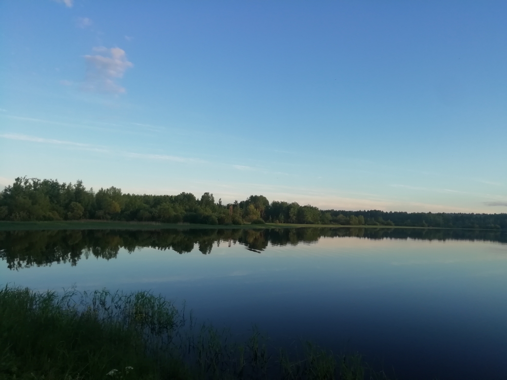
[[116,258],[120,248],[129,253],[143,247],[172,249],[179,254],[197,248],[210,254],[214,243],[230,246],[239,243],[247,249],[261,252],[269,243],[275,246],[312,244],[320,237],[356,237],[366,239],[421,240],[483,240],[507,242],[501,231],[432,230],[432,229],[373,229],[373,228],[298,228],[266,230],[84,230],[84,231],[16,231],[0,232],[0,258],[8,268],[20,269],[33,265],[70,262],[76,265],[82,255],[106,260]]

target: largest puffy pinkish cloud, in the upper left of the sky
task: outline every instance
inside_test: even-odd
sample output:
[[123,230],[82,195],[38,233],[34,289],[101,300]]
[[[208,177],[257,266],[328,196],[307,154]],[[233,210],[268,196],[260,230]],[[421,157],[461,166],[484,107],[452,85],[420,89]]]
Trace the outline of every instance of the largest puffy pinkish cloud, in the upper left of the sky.
[[125,88],[115,83],[115,80],[123,78],[125,71],[134,66],[127,60],[125,51],[102,46],[93,50],[103,55],[85,55],[87,73],[84,89],[93,92],[124,93]]

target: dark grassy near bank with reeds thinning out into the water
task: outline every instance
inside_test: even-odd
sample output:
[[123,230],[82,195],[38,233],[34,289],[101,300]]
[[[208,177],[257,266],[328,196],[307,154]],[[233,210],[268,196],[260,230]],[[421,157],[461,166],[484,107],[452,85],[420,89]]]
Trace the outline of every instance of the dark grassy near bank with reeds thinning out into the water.
[[385,379],[361,358],[311,345],[274,354],[255,329],[242,344],[197,326],[163,297],[0,291],[2,379]]

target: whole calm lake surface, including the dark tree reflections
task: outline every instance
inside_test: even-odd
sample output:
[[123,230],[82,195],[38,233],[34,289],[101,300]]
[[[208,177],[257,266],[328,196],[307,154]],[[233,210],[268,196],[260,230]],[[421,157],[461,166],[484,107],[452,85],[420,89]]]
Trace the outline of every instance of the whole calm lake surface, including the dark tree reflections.
[[0,257],[0,284],[151,289],[201,321],[359,351],[400,379],[507,378],[504,232],[2,232]]

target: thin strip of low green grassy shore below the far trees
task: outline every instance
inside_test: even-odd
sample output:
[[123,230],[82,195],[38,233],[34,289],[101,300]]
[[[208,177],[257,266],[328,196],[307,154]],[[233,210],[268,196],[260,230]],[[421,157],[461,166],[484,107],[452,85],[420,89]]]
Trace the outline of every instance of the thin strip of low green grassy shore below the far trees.
[[465,229],[451,227],[417,227],[401,225],[349,225],[349,224],[291,224],[266,223],[241,225],[158,223],[112,220],[63,220],[63,221],[0,221],[0,231],[43,231],[43,230],[264,230],[295,228],[366,228],[366,229],[416,229],[416,230],[468,230],[498,231],[495,229]]

